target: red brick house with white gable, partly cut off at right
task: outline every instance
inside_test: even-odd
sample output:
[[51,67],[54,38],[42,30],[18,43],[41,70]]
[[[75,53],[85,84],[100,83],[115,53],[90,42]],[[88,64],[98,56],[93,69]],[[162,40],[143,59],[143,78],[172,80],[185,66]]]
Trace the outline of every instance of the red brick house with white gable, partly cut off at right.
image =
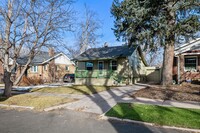
[[175,48],[173,79],[176,83],[200,81],[200,38]]

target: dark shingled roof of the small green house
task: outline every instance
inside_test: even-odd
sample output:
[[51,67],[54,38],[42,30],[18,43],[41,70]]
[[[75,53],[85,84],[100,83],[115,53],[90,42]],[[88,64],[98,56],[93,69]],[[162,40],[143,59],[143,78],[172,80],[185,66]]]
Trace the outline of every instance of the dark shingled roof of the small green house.
[[114,46],[114,47],[101,47],[91,48],[74,58],[75,61],[87,61],[98,59],[115,59],[119,57],[128,57],[136,49],[136,46]]

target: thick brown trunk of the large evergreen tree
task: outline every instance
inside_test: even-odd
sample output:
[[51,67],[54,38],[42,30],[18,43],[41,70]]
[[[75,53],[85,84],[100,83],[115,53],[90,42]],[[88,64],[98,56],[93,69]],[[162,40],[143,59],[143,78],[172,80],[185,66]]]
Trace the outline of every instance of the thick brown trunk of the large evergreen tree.
[[173,42],[167,44],[164,49],[163,71],[162,71],[162,84],[171,85],[172,71],[173,71],[173,59],[174,59],[174,44]]

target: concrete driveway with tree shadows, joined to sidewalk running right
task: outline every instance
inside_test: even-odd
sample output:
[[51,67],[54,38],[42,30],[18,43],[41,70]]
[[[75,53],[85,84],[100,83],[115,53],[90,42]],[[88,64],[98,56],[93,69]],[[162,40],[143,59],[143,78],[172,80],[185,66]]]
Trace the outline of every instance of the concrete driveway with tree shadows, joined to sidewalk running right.
[[85,96],[79,101],[66,104],[65,108],[76,111],[103,114],[117,103],[124,102],[200,109],[200,102],[163,101],[146,98],[133,99],[129,96],[142,88],[142,86],[138,85],[118,87],[116,89]]

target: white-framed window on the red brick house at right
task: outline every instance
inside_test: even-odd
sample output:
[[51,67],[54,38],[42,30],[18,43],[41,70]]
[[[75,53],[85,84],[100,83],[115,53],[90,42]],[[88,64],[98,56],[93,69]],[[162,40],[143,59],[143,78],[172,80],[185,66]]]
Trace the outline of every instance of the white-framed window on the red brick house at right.
[[197,57],[185,57],[185,70],[191,71],[197,68]]

